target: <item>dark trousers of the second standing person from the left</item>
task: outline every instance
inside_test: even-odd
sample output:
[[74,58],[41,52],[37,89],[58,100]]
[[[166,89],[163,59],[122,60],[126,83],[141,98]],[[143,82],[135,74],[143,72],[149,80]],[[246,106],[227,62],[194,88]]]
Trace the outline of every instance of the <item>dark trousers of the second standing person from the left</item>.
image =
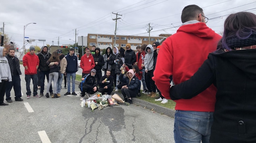
[[12,99],[10,97],[12,87],[15,93],[15,99],[21,98],[21,77],[19,75],[12,76],[12,82],[7,82],[5,91],[6,101]]

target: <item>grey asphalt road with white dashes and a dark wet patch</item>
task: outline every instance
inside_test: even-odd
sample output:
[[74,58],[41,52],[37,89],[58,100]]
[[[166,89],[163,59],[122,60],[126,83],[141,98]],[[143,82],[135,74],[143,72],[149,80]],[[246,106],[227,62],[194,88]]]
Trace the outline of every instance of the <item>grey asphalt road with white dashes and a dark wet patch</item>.
[[21,71],[24,101],[0,106],[0,143],[174,143],[173,118],[134,104],[91,112],[81,107],[80,96],[64,96],[67,89],[57,99],[26,99],[22,65]]

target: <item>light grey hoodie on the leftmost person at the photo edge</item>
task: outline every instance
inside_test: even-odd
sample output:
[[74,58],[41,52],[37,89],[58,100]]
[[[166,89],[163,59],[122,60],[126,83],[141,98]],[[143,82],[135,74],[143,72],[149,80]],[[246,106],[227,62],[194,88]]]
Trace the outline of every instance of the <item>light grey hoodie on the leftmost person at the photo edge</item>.
[[12,81],[12,74],[10,73],[10,66],[6,57],[3,56],[4,47],[0,46],[0,83],[2,80],[8,79]]

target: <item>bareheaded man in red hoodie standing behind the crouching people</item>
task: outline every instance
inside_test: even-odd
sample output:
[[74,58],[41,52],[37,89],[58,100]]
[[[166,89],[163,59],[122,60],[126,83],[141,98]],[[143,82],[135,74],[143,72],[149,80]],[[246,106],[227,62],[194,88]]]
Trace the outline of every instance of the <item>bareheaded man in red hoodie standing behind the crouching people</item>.
[[80,67],[83,69],[82,77],[89,74],[95,67],[94,57],[90,53],[90,49],[85,49],[85,54],[81,57]]

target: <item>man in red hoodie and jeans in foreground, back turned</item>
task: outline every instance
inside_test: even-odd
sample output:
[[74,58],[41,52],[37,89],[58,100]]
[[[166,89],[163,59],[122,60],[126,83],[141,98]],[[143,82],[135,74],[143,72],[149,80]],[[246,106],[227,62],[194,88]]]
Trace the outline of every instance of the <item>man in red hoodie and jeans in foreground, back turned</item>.
[[[208,18],[197,5],[186,6],[181,14],[182,25],[177,33],[162,43],[153,80],[162,96],[170,98],[170,79],[179,84],[190,79],[221,39],[206,26]],[[191,99],[175,100],[174,139],[176,143],[208,143],[213,122],[216,87]]]

